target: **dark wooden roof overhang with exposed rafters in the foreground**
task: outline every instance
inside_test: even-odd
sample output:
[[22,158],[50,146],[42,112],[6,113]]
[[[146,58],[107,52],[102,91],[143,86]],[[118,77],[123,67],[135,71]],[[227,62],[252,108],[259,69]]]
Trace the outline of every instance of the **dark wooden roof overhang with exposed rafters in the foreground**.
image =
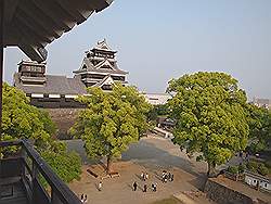
[[[31,60],[47,59],[44,47],[113,0],[3,0],[3,46],[17,46]],[[2,11],[2,8],[0,8]]]

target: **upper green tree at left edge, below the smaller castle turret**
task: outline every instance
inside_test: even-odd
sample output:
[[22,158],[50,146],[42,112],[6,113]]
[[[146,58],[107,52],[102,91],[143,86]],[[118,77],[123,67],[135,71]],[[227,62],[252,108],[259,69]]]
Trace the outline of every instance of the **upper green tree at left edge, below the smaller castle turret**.
[[[43,113],[29,104],[29,99],[23,91],[3,84],[2,103],[2,140],[25,138],[34,140],[35,145],[38,145],[50,139],[53,130],[46,129],[47,124],[41,118]],[[12,149],[4,149],[3,154],[10,151]]]

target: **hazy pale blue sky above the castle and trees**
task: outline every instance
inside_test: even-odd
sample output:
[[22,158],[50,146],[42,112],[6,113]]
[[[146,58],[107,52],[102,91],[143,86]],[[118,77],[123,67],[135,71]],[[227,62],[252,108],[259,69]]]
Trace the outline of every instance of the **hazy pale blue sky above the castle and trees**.
[[[271,0],[115,0],[47,47],[47,73],[72,77],[103,38],[141,90],[164,92],[171,78],[217,71],[238,79],[249,98],[271,98]],[[7,81],[22,59],[5,49]]]

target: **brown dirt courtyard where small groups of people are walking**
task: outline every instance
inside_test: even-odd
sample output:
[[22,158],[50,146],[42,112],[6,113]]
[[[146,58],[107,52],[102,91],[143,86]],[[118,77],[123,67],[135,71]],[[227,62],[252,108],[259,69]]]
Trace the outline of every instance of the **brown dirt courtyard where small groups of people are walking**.
[[[77,145],[75,149],[81,146]],[[121,161],[113,164],[114,171],[118,171],[120,177],[104,179],[102,191],[98,191],[96,188],[100,180],[87,171],[93,165],[88,163],[86,160],[80,181],[73,181],[69,187],[78,196],[82,193],[88,194],[88,203],[95,204],[149,204],[181,192],[195,192],[204,184],[207,170],[205,163],[190,160],[169,140],[157,137],[143,138],[139,143],[130,145],[122,154]],[[172,182],[162,182],[164,169],[175,175]],[[147,181],[141,180],[142,171],[150,175]],[[134,181],[139,184],[136,192],[132,191]],[[153,182],[157,183],[157,192],[151,190]],[[142,192],[145,183],[149,187],[146,193]],[[197,203],[210,203],[203,196],[194,199]]]

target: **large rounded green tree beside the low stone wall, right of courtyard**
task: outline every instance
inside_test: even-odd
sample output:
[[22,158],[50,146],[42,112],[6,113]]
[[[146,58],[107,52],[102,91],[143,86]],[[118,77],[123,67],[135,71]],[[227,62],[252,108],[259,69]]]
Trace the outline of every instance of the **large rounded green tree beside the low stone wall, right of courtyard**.
[[244,150],[248,139],[246,94],[237,80],[224,73],[196,73],[169,81],[171,117],[177,124],[173,142],[197,161],[208,163],[207,175]]

